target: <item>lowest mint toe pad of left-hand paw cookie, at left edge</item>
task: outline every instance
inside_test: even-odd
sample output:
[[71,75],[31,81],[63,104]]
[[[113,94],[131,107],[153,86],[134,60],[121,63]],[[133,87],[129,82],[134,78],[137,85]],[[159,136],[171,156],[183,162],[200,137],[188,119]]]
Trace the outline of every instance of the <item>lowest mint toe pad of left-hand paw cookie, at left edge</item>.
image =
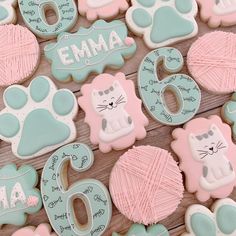
[[20,129],[20,124],[17,119],[12,114],[2,114],[0,115],[0,134],[7,138],[15,136]]

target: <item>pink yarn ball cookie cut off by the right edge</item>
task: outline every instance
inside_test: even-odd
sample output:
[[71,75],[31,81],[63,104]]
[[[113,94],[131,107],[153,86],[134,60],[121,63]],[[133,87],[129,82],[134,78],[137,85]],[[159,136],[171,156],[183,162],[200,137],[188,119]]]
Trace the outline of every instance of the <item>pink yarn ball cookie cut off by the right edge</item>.
[[194,79],[213,94],[236,90],[236,35],[216,31],[205,34],[190,48],[188,69]]

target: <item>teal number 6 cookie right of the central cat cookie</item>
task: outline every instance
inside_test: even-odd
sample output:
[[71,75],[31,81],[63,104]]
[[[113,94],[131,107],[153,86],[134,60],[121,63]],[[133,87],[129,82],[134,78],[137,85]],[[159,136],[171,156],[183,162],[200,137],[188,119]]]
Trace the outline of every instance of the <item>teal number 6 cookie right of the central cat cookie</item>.
[[[160,80],[157,67],[163,62],[169,73],[179,72],[184,64],[182,54],[175,48],[160,48],[150,52],[138,72],[138,86],[143,103],[150,115],[165,125],[179,125],[190,120],[198,111],[201,92],[196,82],[185,74],[173,74]],[[175,94],[179,109],[171,112],[165,92]]]

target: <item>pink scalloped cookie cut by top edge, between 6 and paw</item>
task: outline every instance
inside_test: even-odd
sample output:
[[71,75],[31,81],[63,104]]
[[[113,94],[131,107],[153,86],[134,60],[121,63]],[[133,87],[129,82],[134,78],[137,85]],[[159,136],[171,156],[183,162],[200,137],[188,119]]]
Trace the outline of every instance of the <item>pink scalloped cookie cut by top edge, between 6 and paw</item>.
[[79,0],[79,12],[88,20],[110,19],[128,9],[127,0]]

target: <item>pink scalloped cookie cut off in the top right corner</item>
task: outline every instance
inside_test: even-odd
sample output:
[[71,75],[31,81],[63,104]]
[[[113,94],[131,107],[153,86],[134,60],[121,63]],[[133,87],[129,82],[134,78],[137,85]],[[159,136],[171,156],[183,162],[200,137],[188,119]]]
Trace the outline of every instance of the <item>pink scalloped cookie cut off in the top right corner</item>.
[[200,17],[212,28],[236,24],[236,1],[197,0]]

